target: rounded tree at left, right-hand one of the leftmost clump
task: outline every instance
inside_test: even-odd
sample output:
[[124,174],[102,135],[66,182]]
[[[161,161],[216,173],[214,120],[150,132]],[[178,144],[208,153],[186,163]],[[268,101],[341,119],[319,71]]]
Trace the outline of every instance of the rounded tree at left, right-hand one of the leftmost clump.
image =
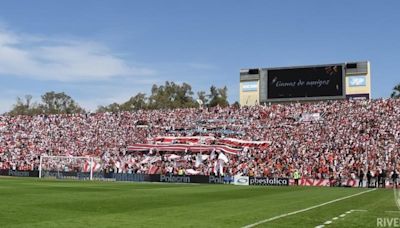
[[42,104],[39,109],[45,114],[82,113],[84,110],[64,92],[47,92],[42,95]]

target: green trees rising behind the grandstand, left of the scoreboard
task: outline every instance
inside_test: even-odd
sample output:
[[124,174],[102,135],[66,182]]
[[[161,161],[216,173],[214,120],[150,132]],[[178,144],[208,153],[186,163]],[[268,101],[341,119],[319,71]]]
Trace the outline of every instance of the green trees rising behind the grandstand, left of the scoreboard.
[[[33,102],[31,95],[17,97],[8,115],[39,115],[39,114],[72,114],[85,113],[72,97],[64,92],[46,92],[41,96],[40,102]],[[192,86],[187,83],[177,84],[166,81],[164,85],[153,85],[149,96],[138,93],[122,103],[112,103],[99,106],[96,112],[135,111],[140,109],[175,109],[193,108],[199,106],[226,107],[228,102],[228,88],[210,87],[209,93],[192,91]]]

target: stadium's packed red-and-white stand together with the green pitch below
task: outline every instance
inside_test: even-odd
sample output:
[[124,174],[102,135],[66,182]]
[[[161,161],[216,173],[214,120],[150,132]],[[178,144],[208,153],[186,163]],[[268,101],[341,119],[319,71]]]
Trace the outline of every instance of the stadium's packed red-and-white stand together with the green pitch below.
[[0,225],[374,227],[399,123],[400,99],[1,116]]

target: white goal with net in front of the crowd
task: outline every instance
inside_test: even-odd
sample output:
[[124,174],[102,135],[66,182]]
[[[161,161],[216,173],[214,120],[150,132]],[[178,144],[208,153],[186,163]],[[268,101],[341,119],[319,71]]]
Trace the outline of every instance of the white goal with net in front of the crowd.
[[93,173],[100,169],[98,158],[71,157],[71,156],[40,156],[39,178],[79,178],[79,175],[89,174],[93,180]]

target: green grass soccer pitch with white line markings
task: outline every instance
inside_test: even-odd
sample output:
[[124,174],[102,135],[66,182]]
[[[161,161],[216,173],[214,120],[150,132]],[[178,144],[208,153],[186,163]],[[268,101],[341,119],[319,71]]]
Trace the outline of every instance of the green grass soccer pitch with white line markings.
[[0,227],[376,227],[393,193],[2,177]]

